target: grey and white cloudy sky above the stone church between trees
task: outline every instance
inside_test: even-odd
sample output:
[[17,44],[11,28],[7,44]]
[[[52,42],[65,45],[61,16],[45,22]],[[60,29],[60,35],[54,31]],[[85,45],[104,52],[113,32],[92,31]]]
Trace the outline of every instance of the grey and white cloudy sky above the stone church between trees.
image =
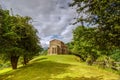
[[38,30],[43,47],[48,47],[49,41],[59,39],[67,43],[72,40],[72,30],[75,25],[75,9],[68,4],[72,0],[0,0],[4,9],[13,10],[14,15],[30,16],[33,25]]

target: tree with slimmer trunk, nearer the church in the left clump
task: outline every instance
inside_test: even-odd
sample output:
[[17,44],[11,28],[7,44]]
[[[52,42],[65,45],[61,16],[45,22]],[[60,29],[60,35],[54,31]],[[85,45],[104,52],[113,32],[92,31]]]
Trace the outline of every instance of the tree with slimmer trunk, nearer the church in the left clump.
[[[32,56],[38,54],[41,49],[39,38],[36,35],[37,30],[29,23],[30,17],[21,17],[23,27],[15,28],[16,33],[21,35],[19,46],[25,49],[23,54],[24,64],[26,65]],[[20,21],[20,20],[19,20]],[[21,31],[21,33],[20,33]]]

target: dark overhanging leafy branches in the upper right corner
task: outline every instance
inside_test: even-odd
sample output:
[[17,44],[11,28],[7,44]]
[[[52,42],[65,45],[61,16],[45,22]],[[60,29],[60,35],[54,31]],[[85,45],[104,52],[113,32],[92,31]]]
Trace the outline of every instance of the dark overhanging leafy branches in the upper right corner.
[[73,0],[71,6],[77,6],[78,13],[87,14],[86,17],[79,16],[78,22],[82,20],[106,28],[120,25],[120,1],[118,0]]

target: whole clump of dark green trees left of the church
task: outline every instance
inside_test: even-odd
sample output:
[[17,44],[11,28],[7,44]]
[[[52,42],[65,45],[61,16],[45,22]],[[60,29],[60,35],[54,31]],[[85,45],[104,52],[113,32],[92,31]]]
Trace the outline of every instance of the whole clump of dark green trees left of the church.
[[10,59],[12,68],[16,69],[20,56],[34,56],[39,52],[39,39],[29,23],[30,17],[11,16],[8,10],[1,10],[0,14],[0,51],[5,58]]

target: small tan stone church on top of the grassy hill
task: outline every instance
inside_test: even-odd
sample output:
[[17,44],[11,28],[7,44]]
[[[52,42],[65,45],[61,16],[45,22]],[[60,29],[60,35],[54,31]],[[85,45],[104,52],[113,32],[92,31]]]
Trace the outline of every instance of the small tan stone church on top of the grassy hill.
[[67,54],[67,47],[62,41],[54,39],[50,41],[48,54]]

